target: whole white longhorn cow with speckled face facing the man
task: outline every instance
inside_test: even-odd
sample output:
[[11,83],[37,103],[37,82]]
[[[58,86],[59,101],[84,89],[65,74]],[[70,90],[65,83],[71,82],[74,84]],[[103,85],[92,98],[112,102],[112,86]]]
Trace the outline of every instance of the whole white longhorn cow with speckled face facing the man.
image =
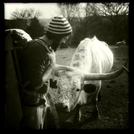
[[82,40],[72,57],[70,67],[73,71],[59,72],[57,89],[49,90],[57,107],[70,112],[76,106],[93,103],[93,113],[97,118],[96,101],[101,89],[101,80],[113,79],[124,71],[121,68],[109,73],[113,62],[113,53],[105,42],[99,41],[96,37]]

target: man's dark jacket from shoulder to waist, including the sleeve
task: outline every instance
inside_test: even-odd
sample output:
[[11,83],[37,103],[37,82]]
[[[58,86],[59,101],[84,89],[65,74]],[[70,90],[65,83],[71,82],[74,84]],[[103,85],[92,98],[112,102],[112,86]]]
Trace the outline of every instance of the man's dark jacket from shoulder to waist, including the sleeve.
[[37,91],[39,93],[46,92],[47,84],[44,84],[38,90],[36,90],[35,87],[41,85],[42,76],[49,64],[50,61],[48,59],[47,50],[42,44],[38,43],[36,40],[27,43],[20,59],[22,82],[25,84],[30,81],[30,84],[26,86],[27,90]]

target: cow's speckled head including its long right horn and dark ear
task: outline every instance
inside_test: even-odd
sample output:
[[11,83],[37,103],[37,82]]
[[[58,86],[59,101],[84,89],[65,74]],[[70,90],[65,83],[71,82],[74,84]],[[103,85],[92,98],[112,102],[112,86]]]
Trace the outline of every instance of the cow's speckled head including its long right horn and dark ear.
[[[123,71],[124,67],[115,72],[101,74],[85,74],[76,69],[60,71],[57,78],[57,88],[53,90],[55,91],[53,97],[56,98],[57,107],[68,112],[73,110],[77,104],[82,105],[86,102],[87,97],[96,90],[96,86],[86,84],[87,81],[113,79],[122,74]],[[53,94],[52,92],[51,95]]]

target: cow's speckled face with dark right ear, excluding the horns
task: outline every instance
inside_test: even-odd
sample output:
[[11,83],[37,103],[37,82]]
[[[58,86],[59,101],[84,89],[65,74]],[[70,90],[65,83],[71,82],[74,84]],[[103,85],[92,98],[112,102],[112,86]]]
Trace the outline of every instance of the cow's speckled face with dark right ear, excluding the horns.
[[57,80],[58,103],[62,109],[70,112],[77,104],[82,105],[90,93],[96,90],[93,84],[84,82],[80,72],[60,72]]

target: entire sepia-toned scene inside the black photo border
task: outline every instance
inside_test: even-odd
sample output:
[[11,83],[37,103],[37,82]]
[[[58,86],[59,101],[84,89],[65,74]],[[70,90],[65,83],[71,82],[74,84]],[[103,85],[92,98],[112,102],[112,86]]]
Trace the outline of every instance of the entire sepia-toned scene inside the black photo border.
[[129,129],[129,5],[4,3],[5,129]]

